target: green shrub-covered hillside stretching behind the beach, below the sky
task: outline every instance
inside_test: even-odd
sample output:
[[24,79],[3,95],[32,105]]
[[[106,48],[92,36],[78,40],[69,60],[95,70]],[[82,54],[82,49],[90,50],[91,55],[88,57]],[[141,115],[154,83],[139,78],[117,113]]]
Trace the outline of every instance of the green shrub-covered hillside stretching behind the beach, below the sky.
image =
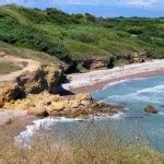
[[0,7],[0,40],[43,51],[69,62],[72,59],[110,58],[147,50],[164,57],[162,19],[102,19],[67,14],[57,9]]

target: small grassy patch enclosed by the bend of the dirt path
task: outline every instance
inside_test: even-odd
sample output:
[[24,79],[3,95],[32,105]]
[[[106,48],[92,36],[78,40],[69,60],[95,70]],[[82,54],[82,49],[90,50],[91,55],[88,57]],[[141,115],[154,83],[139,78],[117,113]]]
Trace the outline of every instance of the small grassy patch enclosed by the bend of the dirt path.
[[0,74],[10,73],[17,70],[21,70],[21,67],[9,61],[0,61]]

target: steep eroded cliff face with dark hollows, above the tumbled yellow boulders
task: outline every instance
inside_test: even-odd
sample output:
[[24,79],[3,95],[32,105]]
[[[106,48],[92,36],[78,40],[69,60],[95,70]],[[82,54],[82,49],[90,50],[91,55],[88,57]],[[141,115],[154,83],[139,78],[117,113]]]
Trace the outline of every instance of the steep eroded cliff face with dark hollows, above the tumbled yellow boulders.
[[40,66],[33,72],[26,71],[14,81],[0,82],[0,107],[8,102],[24,98],[28,94],[39,94],[44,91],[56,92],[56,86],[62,77],[62,69],[57,66]]

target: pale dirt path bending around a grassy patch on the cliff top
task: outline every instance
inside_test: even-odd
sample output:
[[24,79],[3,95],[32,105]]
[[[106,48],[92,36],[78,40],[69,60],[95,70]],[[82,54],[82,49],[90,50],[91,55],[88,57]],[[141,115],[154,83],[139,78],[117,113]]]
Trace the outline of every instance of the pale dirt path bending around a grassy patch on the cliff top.
[[0,82],[14,81],[19,75],[23,74],[24,72],[33,72],[40,67],[39,61],[5,55],[5,52],[3,51],[0,51],[0,60],[13,62],[14,65],[21,66],[22,68],[22,70],[15,72],[0,74]]

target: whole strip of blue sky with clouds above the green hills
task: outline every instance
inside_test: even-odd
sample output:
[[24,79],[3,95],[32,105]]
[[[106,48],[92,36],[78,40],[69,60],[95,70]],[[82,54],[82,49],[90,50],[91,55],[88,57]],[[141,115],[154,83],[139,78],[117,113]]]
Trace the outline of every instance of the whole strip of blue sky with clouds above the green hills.
[[164,0],[0,0],[0,5],[7,3],[96,16],[164,16]]

